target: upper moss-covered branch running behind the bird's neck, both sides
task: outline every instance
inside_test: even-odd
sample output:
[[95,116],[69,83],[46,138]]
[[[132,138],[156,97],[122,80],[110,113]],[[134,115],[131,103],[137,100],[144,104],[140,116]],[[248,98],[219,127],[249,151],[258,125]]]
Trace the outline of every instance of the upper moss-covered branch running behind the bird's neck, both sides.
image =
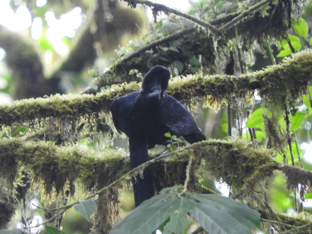
[[[285,58],[281,64],[239,77],[201,74],[175,77],[170,81],[167,93],[183,103],[192,103],[195,98],[200,98],[205,105],[219,105],[230,101],[233,95],[248,100],[257,89],[266,100],[278,104],[286,93],[292,100],[299,98],[311,82],[312,51],[305,50]],[[139,89],[140,83],[131,82],[113,85],[96,95],[54,95],[15,101],[0,106],[0,124],[8,126],[48,117],[73,119],[101,111],[109,113],[112,100]]]

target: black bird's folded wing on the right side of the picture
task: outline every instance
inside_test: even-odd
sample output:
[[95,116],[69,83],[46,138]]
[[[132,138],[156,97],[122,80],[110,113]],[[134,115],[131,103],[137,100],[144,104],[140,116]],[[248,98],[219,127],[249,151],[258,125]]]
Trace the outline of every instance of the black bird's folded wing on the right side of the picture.
[[178,135],[188,135],[200,131],[191,113],[172,96],[165,94],[159,111],[160,121]]

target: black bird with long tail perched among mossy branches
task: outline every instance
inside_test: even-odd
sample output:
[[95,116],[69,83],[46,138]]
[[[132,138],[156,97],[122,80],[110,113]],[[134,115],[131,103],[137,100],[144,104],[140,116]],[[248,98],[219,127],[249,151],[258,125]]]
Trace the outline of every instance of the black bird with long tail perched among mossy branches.
[[[163,144],[171,135],[183,136],[189,143],[205,140],[190,112],[172,96],[165,94],[170,72],[154,66],[145,75],[140,91],[115,99],[111,104],[114,125],[129,137],[130,165],[135,168],[149,160],[148,149]],[[132,178],[135,206],[154,196],[151,170]]]

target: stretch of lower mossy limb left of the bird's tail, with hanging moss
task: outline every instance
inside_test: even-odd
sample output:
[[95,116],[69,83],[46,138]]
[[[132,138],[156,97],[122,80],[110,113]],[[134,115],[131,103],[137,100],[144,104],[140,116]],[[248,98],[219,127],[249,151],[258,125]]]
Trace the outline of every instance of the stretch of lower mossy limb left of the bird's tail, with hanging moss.
[[[97,186],[99,181],[110,184],[123,175],[127,164],[123,162],[123,150],[106,149],[101,152],[87,150],[79,146],[56,146],[51,142],[25,142],[23,139],[0,140],[0,172],[2,178],[13,183],[20,164],[32,170],[32,178],[42,182],[47,193],[55,189],[63,191],[64,186],[76,180],[82,181],[85,188]],[[10,184],[8,183],[8,184]],[[71,187],[73,194],[74,187]]]

